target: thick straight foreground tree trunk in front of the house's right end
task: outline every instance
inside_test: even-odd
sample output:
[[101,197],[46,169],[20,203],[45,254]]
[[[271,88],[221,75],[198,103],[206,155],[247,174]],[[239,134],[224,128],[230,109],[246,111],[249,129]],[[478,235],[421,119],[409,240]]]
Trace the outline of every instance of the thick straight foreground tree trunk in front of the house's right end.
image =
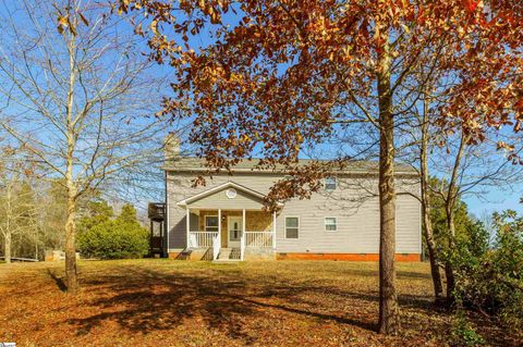
[[378,57],[379,98],[379,322],[378,332],[397,334],[400,310],[396,293],[396,188],[394,188],[394,120],[390,89],[388,35]]

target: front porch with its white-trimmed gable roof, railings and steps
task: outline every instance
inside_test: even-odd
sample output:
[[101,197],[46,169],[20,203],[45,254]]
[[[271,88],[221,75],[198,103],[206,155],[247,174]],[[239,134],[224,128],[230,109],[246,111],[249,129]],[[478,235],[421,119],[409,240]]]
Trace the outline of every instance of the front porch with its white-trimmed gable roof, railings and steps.
[[177,205],[185,209],[187,252],[208,260],[245,260],[276,255],[276,212],[264,210],[265,196],[234,182],[202,191]]

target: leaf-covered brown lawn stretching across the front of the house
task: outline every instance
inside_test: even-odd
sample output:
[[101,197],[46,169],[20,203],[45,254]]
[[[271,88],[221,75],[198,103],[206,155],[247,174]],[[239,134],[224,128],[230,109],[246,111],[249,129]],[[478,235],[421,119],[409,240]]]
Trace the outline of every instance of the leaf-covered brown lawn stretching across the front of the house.
[[[84,261],[0,264],[0,342],[17,346],[446,346],[452,318],[431,305],[424,263],[399,263],[402,334],[375,333],[376,263]],[[518,346],[482,315],[489,345]],[[519,339],[519,340],[518,340]]]

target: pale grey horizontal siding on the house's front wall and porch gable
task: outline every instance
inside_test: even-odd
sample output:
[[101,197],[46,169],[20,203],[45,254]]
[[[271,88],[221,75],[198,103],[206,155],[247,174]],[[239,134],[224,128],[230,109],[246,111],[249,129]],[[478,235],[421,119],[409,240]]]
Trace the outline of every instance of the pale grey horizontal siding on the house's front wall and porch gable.
[[[181,249],[186,245],[185,209],[178,201],[232,181],[250,189],[267,194],[282,176],[278,174],[236,173],[216,175],[207,179],[205,187],[192,187],[196,174],[170,172],[167,177],[169,206],[169,248]],[[397,179],[398,191],[417,194],[415,179]],[[376,196],[377,179],[338,176],[333,191],[314,194],[311,199],[287,201],[277,215],[278,252],[324,253],[377,253],[379,250],[379,206]],[[223,190],[190,205],[200,209],[260,209],[260,199],[238,190],[234,199]],[[397,253],[421,252],[421,210],[416,198],[400,194],[397,199]],[[285,239],[285,216],[300,218],[300,236]],[[338,230],[325,231],[325,218],[336,216]],[[191,223],[192,224],[192,223]]]

